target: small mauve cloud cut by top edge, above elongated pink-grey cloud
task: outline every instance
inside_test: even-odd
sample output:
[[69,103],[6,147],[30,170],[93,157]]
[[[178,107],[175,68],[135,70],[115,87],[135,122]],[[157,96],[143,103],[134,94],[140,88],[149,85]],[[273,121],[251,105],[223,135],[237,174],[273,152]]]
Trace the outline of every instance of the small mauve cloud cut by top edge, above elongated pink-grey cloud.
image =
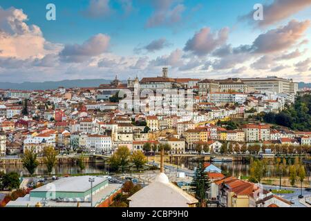
[[82,11],[82,15],[89,18],[109,17],[112,13],[109,0],[90,0],[88,8]]

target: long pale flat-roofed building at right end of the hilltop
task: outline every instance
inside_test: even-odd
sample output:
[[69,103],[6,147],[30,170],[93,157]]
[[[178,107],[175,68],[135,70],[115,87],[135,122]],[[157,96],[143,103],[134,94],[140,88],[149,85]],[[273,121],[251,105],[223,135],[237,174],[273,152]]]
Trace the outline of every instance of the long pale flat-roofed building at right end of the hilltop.
[[281,77],[254,77],[241,79],[247,86],[260,90],[261,92],[290,93],[296,94],[298,83],[292,79]]

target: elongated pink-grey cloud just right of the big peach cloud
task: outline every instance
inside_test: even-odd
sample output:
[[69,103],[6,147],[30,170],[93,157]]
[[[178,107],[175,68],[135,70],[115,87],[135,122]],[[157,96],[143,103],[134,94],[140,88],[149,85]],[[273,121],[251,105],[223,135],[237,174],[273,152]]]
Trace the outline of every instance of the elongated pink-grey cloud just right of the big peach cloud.
[[97,34],[82,45],[66,44],[62,52],[59,53],[62,61],[65,62],[82,62],[91,57],[101,55],[107,52],[109,48],[110,37],[108,35]]

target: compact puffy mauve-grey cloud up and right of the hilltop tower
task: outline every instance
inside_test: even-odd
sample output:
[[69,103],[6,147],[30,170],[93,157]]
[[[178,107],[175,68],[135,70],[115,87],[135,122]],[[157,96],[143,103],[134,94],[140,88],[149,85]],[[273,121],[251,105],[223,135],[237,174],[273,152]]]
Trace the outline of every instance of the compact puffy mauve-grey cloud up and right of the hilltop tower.
[[210,28],[202,28],[196,32],[194,37],[189,39],[184,50],[194,53],[194,55],[204,56],[222,46],[227,41],[229,28],[222,28],[217,33],[211,32]]

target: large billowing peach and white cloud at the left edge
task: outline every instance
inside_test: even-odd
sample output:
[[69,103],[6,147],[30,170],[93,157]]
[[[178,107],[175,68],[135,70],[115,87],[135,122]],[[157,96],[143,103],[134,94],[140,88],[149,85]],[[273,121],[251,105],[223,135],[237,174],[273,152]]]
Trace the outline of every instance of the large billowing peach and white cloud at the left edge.
[[0,57],[41,58],[61,50],[61,45],[44,39],[38,26],[28,26],[27,19],[23,10],[0,8]]

